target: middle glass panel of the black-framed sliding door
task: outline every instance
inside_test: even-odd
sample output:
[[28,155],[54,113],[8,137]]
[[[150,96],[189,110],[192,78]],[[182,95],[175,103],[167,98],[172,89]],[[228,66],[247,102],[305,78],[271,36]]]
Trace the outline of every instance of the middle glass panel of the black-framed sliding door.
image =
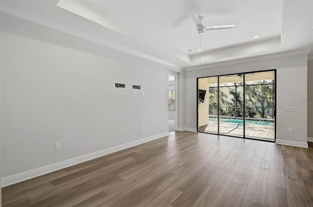
[[243,74],[220,76],[219,109],[220,134],[244,137]]

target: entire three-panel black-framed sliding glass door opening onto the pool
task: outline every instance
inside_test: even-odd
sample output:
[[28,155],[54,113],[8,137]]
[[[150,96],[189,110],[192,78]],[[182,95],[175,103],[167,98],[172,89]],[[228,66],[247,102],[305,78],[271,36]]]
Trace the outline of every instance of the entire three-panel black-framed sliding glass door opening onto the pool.
[[275,70],[197,81],[198,132],[275,140]]

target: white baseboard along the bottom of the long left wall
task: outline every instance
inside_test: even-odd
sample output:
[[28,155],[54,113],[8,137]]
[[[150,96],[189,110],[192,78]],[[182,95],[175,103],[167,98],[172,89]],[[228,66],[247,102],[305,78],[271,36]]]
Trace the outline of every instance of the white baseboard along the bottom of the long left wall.
[[122,145],[119,145],[119,146],[116,146],[116,147],[112,147],[112,148],[109,148],[109,149],[105,149],[105,150],[102,150],[102,151],[96,151],[96,152],[93,152],[93,153],[90,153],[90,154],[86,154],[86,155],[83,155],[83,156],[80,156],[80,157],[75,157],[75,158],[72,158],[72,159],[69,159],[69,160],[65,160],[65,161],[62,161],[62,162],[59,162],[59,163],[55,163],[55,164],[52,164],[52,165],[47,165],[45,167],[32,169],[32,170],[21,172],[21,173],[15,174],[15,175],[7,176],[7,177],[4,177],[4,178],[1,179],[1,188],[13,185],[15,183],[20,183],[22,181],[25,181],[25,180],[28,180],[28,179],[31,179],[31,178],[34,178],[34,177],[38,177],[38,176],[41,176],[41,175],[44,175],[44,174],[47,174],[47,173],[50,173],[50,172],[53,172],[53,171],[56,171],[56,170],[59,170],[59,169],[64,169],[64,168],[67,168],[67,167],[70,167],[70,166],[73,166],[73,165],[77,165],[79,163],[83,163],[83,162],[86,162],[88,160],[92,160],[92,159],[97,158],[97,157],[101,157],[101,156],[104,156],[104,155],[107,155],[107,154],[111,154],[111,153],[116,152],[116,151],[125,150],[127,148],[131,148],[131,147],[134,147],[136,145],[140,145],[140,144],[143,144],[143,143],[146,143],[146,142],[150,142],[150,141],[153,141],[155,139],[159,139],[159,138],[162,138],[162,137],[165,137],[165,136],[168,136],[168,135],[169,135],[169,132],[156,134],[154,136],[150,136],[150,137],[147,137],[147,138],[139,139],[139,140],[136,140],[134,142],[129,142],[129,143],[122,144]]

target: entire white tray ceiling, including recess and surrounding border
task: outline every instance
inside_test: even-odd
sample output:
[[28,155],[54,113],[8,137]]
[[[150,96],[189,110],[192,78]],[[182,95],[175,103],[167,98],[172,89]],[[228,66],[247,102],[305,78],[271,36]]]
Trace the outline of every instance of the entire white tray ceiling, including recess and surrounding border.
[[[203,16],[205,26],[235,26],[205,31],[199,52],[200,35],[189,11]],[[313,0],[1,0],[1,12],[177,71],[247,58],[313,55]]]

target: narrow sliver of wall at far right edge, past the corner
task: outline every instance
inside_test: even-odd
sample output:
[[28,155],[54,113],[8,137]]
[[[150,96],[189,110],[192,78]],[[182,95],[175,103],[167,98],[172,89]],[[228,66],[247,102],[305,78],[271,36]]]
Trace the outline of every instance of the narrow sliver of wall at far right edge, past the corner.
[[308,60],[308,137],[313,141],[313,60]]

